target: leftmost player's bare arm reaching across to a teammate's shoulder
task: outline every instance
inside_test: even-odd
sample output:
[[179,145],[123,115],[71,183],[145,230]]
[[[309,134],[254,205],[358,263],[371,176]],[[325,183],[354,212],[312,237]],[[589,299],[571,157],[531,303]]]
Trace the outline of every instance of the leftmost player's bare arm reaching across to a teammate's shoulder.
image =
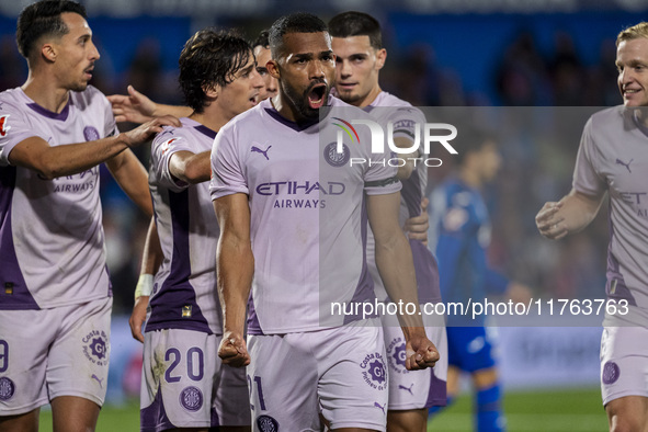
[[88,143],[50,147],[39,137],[30,137],[19,143],[9,154],[9,162],[37,171],[45,179],[78,174],[104,162],[130,147],[139,146],[162,126],[180,126],[178,118],[157,117],[133,130],[117,136]]

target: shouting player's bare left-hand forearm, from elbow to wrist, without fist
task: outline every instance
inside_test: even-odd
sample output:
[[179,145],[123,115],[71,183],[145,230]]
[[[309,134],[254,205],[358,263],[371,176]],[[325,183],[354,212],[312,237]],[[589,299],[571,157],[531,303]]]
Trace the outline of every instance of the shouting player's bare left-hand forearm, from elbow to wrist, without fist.
[[243,334],[254,257],[249,242],[232,237],[223,234],[218,241],[218,296],[224,331]]

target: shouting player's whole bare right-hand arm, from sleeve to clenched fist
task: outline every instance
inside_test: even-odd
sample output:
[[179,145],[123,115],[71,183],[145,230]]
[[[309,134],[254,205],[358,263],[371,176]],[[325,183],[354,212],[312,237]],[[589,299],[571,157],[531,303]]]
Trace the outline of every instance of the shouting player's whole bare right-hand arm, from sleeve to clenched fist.
[[409,242],[398,224],[400,193],[370,195],[367,215],[376,239],[376,266],[395,303],[413,304],[413,315],[399,315],[398,321],[407,341],[408,370],[433,367],[439,361],[439,351],[427,338],[419,315],[417,280]]

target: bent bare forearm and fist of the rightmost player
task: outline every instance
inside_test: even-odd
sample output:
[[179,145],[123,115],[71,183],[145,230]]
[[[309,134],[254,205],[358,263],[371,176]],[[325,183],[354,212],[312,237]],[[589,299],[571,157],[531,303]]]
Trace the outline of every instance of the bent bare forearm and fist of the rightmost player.
[[552,240],[578,232],[596,216],[604,196],[590,196],[572,189],[559,202],[545,203],[535,216],[535,225],[539,234]]

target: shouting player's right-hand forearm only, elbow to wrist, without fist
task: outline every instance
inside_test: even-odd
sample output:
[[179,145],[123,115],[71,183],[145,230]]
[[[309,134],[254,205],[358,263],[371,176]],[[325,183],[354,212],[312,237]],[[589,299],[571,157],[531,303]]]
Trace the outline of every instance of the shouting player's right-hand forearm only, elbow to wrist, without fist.
[[385,241],[376,241],[376,266],[391,302],[412,304],[416,307],[413,315],[398,316],[400,326],[410,328],[408,331],[414,331],[413,328],[419,327],[422,329],[412,253],[402,232],[395,232]]

